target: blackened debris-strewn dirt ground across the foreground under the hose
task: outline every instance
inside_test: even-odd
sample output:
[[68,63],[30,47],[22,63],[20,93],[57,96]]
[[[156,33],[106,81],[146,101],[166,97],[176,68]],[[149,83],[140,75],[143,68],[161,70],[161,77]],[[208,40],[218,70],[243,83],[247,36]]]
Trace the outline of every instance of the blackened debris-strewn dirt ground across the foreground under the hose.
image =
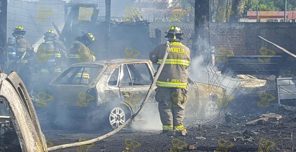
[[[256,111],[256,109],[253,109]],[[268,111],[266,111],[268,110]],[[264,113],[277,113],[283,117],[280,120],[269,119],[267,122],[255,125],[246,125],[251,120],[260,118]],[[128,147],[125,140],[133,140],[133,146],[140,143],[140,146],[134,147],[134,151],[141,152],[170,152],[173,146],[179,144],[186,145],[183,148],[176,148],[175,151],[229,151],[229,152],[288,152],[292,151],[291,133],[296,133],[296,123],[294,123],[295,110],[287,110],[284,108],[275,109],[273,106],[265,109],[265,112],[256,114],[249,113],[232,113],[231,115],[221,115],[220,121],[209,123],[208,125],[190,125],[187,128],[187,135],[184,137],[173,137],[160,134],[160,130],[139,131],[139,130],[121,130],[116,135],[93,143],[94,145],[82,145],[80,147],[72,147],[63,150],[55,150],[55,152],[73,152],[81,149],[88,149],[89,152],[122,152],[133,151],[132,146]],[[227,122],[226,122],[227,120]],[[53,131],[43,130],[46,140],[54,145],[62,145],[71,142],[78,142],[80,138],[89,140],[102,132],[95,131]],[[202,139],[202,137],[205,139]],[[266,140],[265,140],[266,139]],[[218,144],[219,142],[219,144]],[[127,141],[127,144],[130,144]],[[233,144],[233,145],[232,145]],[[260,148],[261,149],[258,149]],[[293,147],[294,149],[294,147]],[[171,150],[173,151],[173,150]]]

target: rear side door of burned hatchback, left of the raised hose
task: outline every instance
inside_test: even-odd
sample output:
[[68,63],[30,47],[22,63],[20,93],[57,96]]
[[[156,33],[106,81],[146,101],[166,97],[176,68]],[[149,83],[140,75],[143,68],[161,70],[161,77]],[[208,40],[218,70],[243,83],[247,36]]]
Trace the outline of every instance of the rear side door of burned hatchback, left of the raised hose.
[[[147,62],[122,64],[119,90],[123,101],[136,108],[144,99],[152,84],[153,76]],[[152,100],[147,103],[153,102]]]

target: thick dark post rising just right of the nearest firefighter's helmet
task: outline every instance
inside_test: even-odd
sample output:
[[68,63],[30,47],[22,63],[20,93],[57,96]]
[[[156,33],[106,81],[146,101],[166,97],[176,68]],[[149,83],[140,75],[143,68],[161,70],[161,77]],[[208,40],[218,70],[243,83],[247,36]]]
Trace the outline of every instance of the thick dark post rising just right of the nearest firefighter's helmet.
[[195,0],[192,56],[200,56],[204,51],[210,51],[209,28],[209,0]]

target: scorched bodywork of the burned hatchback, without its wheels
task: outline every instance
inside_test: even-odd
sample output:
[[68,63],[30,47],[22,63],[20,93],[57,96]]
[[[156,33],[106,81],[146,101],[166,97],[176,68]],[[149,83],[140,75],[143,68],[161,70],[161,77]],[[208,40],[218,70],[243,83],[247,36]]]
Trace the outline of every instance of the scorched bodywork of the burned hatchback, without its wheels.
[[[75,67],[88,68],[95,66],[101,67],[101,70],[97,75],[93,74],[95,77],[90,78],[91,81],[87,84],[77,85],[69,83],[73,80],[67,81],[66,84],[60,83],[70,73],[71,69]],[[69,75],[72,76],[68,76],[69,79],[76,74],[77,71],[70,73]],[[63,107],[62,110],[68,111],[68,114],[74,118],[78,118],[79,115],[85,118],[85,115],[87,115],[91,117],[92,122],[96,121],[94,119],[100,119],[98,116],[102,116],[103,110],[110,111],[114,107],[120,107],[119,110],[128,109],[130,114],[132,114],[144,100],[152,84],[154,74],[155,69],[152,66],[152,62],[144,59],[132,59],[130,61],[117,59],[76,63],[50,82],[49,94],[55,98],[51,104],[53,108]],[[204,91],[200,91],[198,87],[208,85],[194,82],[190,78],[188,79],[188,84],[188,101],[185,104],[188,111],[195,112],[187,112],[186,115],[198,115],[197,111],[202,111],[203,107],[201,105],[204,105],[199,100],[199,96],[202,95],[201,99],[204,99],[207,97],[206,94],[209,95],[209,91],[202,93]],[[156,89],[156,86],[154,89]],[[203,87],[202,90],[209,90],[209,87]],[[88,102],[87,107],[79,107],[77,105],[77,102],[81,99],[79,97],[81,92],[86,96],[84,100]],[[66,93],[70,94],[67,95]],[[154,95],[155,91],[149,97],[150,100],[147,101],[147,104],[157,103]],[[91,96],[95,99],[88,101]],[[133,103],[128,102],[130,98],[135,99]],[[155,108],[157,109],[157,106]]]

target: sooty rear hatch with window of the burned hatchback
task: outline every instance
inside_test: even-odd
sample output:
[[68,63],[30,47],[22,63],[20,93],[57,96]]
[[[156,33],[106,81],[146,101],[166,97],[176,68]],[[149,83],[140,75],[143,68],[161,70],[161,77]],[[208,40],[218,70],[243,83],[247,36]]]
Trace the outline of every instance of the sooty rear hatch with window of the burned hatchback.
[[[60,74],[50,82],[49,95],[54,97],[55,105],[77,106],[80,98],[85,96],[85,94],[79,96],[79,93],[88,94],[93,87],[93,80],[101,70],[100,66],[74,66]],[[84,81],[84,76],[88,77],[88,81]],[[96,100],[90,101],[89,104],[96,104]]]

